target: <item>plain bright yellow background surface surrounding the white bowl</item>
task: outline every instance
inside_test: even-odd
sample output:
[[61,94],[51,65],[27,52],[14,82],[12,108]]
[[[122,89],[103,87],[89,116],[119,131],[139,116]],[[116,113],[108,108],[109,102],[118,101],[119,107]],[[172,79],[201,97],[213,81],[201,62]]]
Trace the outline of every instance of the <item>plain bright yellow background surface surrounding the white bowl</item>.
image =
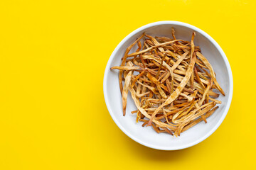
[[[255,18],[253,0],[1,1],[0,169],[255,169]],[[174,152],[124,135],[102,87],[114,47],[166,20],[212,36],[234,78],[220,128]]]

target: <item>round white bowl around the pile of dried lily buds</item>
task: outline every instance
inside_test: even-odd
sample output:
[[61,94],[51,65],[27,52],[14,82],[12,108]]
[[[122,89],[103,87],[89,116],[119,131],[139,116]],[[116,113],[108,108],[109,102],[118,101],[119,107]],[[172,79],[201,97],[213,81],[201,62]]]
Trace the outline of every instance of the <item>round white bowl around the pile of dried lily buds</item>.
[[[110,71],[110,67],[119,66],[121,64],[121,58],[124,55],[125,50],[129,45],[139,38],[142,33],[146,32],[153,36],[167,36],[171,37],[171,27],[174,27],[176,38],[182,40],[191,40],[193,30],[196,31],[196,38],[194,40],[195,45],[201,47],[203,55],[208,59],[210,64],[217,75],[217,81],[225,91],[225,96],[220,94],[218,100],[222,101],[222,104],[218,105],[218,108],[213,115],[207,120],[208,123],[198,123],[193,128],[181,133],[180,137],[172,137],[166,133],[156,133],[151,127],[142,128],[142,123],[135,123],[136,115],[132,115],[130,112],[137,110],[132,101],[130,94],[127,98],[127,115],[122,115],[122,97],[119,91],[118,83],[118,71]],[[131,52],[134,52],[134,49]],[[119,45],[114,49],[110,60],[107,62],[105,69],[103,90],[105,96],[105,102],[107,109],[110,112],[114,122],[117,126],[132,140],[139,142],[140,144],[161,150],[177,150],[191,147],[193,145],[202,142],[209,137],[223,122],[225,115],[230,108],[231,99],[233,96],[233,77],[230,69],[230,64],[225,56],[225,53],[220,48],[213,38],[207,33],[203,32],[195,26],[191,26],[188,23],[181,23],[177,21],[159,21],[156,23],[149,23],[146,26],[142,26],[132,33],[127,35]]]

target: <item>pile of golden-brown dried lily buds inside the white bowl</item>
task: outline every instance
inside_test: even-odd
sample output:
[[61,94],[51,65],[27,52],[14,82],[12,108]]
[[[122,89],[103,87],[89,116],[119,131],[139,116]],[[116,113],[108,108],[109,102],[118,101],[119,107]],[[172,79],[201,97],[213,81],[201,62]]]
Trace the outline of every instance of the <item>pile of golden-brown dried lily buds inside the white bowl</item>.
[[[191,42],[172,38],[151,37],[145,33],[130,45],[119,67],[119,86],[123,114],[126,113],[128,91],[137,111],[136,121],[152,126],[156,132],[179,136],[212,115],[216,100],[223,89],[200,47]],[[136,52],[129,51],[137,44]],[[124,86],[123,86],[124,81]]]

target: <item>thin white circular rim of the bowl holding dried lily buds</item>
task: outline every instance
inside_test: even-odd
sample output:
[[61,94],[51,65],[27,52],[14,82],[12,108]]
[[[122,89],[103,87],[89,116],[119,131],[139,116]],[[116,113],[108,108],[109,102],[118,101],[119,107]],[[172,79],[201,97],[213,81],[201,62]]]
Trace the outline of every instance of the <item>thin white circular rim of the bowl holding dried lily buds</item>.
[[[226,67],[228,69],[228,78],[230,79],[230,86],[228,87],[230,89],[230,93],[229,93],[228,96],[226,96],[226,97],[228,97],[228,102],[226,104],[225,110],[223,111],[223,115],[220,117],[220,120],[218,120],[218,123],[216,123],[216,125],[208,133],[206,133],[206,135],[204,135],[203,137],[201,137],[198,140],[195,140],[195,141],[193,141],[191,143],[188,143],[187,145],[182,145],[181,147],[176,147],[176,146],[161,147],[161,146],[157,146],[157,145],[151,145],[148,142],[144,142],[142,140],[139,140],[137,137],[134,137],[122,125],[120,125],[120,123],[117,120],[117,118],[115,118],[114,113],[112,111],[112,108],[110,107],[109,99],[107,98],[107,77],[108,77],[109,72],[110,72],[110,64],[112,63],[112,60],[114,59],[114,55],[116,55],[116,53],[117,53],[117,50],[119,50],[119,47],[121,47],[124,44],[124,42],[126,42],[129,38],[131,38],[133,35],[135,35],[138,32],[140,32],[141,30],[144,30],[146,28],[150,28],[150,27],[153,27],[153,26],[160,26],[160,25],[184,26],[184,27],[187,27],[187,28],[191,28],[191,29],[195,30],[196,32],[201,33],[201,35],[205,36],[208,40],[210,40],[210,42],[213,43],[213,45],[220,52],[220,55],[223,57],[225,65],[226,65]],[[196,26],[192,26],[191,24],[183,23],[183,22],[180,22],[180,21],[158,21],[158,22],[146,24],[146,25],[144,25],[144,26],[142,26],[140,28],[137,28],[136,30],[132,31],[132,33],[129,33],[129,35],[127,35],[121,42],[119,42],[117,47],[115,47],[114,51],[112,52],[112,55],[110,56],[110,59],[107,62],[107,66],[105,68],[104,79],[103,79],[103,93],[104,93],[104,98],[105,98],[105,103],[106,103],[106,106],[107,106],[107,110],[109,111],[112,119],[114,120],[114,123],[116,123],[116,125],[119,127],[120,130],[122,130],[122,132],[124,132],[124,134],[126,134],[128,137],[130,137],[132,140],[138,142],[139,144],[144,145],[146,147],[150,147],[152,149],[179,150],[179,149],[185,149],[185,148],[188,148],[188,147],[192,147],[193,145],[196,145],[196,144],[202,142],[203,140],[206,140],[206,138],[209,137],[210,135],[212,135],[213,132],[215,132],[215,130],[218,129],[220,124],[223,123],[223,120],[224,120],[225,116],[228,114],[228,110],[230,108],[230,104],[231,104],[232,97],[233,97],[233,75],[232,75],[230,64],[228,62],[228,58],[226,57],[226,55],[223,52],[222,48],[206,32],[204,32],[203,30],[197,28]]]

